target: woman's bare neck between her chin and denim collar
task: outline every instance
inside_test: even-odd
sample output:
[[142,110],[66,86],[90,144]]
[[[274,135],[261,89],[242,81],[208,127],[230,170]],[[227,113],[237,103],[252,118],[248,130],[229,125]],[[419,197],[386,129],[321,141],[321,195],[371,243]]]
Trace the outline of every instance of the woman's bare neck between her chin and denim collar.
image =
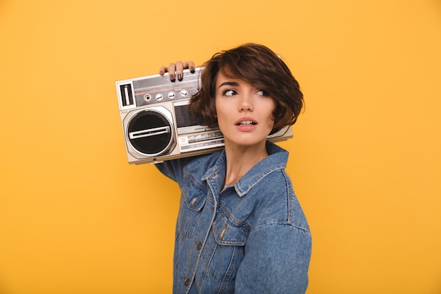
[[224,185],[234,185],[262,159],[268,157],[266,142],[251,147],[231,146],[225,142],[227,173]]

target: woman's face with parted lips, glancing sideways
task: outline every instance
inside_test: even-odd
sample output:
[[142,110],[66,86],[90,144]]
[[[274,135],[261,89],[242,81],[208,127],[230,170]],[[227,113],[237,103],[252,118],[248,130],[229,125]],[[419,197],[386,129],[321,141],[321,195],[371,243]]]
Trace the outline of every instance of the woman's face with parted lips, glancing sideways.
[[218,73],[216,113],[225,144],[264,146],[273,129],[274,109],[274,99],[261,89]]

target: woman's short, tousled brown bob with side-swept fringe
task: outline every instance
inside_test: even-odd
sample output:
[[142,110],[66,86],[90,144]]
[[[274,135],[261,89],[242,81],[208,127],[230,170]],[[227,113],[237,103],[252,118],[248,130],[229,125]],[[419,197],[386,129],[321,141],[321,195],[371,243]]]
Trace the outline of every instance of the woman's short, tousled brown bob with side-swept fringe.
[[221,51],[204,63],[199,92],[190,99],[190,112],[201,116],[202,124],[218,125],[216,116],[216,78],[249,82],[275,101],[274,128],[293,125],[303,108],[303,94],[290,69],[271,49],[260,44],[243,44]]

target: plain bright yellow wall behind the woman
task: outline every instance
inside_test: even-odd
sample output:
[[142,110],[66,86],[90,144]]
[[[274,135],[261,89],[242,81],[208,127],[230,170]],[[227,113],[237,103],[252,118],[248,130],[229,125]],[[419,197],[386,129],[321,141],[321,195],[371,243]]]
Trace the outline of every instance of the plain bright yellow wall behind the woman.
[[0,42],[0,293],[170,293],[179,190],[127,163],[114,82],[244,42],[304,92],[308,293],[441,293],[439,0],[3,0]]

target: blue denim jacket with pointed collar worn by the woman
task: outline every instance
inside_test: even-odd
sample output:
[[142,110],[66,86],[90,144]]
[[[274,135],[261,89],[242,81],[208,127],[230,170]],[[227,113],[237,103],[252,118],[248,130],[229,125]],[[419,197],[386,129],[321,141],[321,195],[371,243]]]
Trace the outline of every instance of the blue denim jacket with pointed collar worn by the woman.
[[311,233],[285,173],[269,156],[223,188],[225,152],[156,165],[182,191],[173,293],[305,293]]

